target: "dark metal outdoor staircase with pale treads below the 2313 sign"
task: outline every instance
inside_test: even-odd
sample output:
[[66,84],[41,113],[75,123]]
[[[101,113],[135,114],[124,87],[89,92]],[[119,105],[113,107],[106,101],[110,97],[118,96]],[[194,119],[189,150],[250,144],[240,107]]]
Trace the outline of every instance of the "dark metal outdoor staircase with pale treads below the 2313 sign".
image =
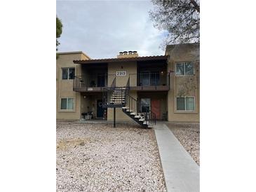
[[142,128],[149,128],[156,125],[156,114],[152,111],[141,111],[140,102],[129,95],[130,79],[126,87],[116,87],[116,78],[110,88],[103,92],[102,100],[104,108],[114,108],[114,127],[116,125],[116,108],[122,108],[123,113],[132,118]]

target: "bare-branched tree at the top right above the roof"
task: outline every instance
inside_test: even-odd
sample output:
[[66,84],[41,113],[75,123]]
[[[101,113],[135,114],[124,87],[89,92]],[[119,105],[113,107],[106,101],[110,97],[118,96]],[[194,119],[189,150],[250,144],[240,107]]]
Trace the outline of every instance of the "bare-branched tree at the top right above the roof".
[[151,0],[149,11],[154,27],[168,32],[165,44],[198,43],[200,41],[199,0]]

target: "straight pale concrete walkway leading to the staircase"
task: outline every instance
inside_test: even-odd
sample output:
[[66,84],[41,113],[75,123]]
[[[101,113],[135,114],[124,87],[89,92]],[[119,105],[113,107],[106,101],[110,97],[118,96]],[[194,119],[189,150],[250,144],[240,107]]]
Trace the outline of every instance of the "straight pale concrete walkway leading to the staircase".
[[199,192],[199,166],[164,123],[154,125],[167,191]]

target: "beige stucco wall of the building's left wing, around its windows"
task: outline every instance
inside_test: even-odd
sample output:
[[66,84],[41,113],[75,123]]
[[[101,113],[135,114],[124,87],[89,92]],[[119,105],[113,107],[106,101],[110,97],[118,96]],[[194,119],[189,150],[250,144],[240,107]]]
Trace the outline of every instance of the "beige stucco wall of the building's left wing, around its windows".
[[[87,59],[83,53],[61,53],[56,60],[56,118],[76,120],[81,117],[81,96],[80,92],[73,91],[73,80],[62,80],[62,67],[74,67],[75,75],[81,75],[80,64],[74,64],[73,60]],[[67,111],[60,109],[60,100],[63,97],[74,98],[74,110]]]

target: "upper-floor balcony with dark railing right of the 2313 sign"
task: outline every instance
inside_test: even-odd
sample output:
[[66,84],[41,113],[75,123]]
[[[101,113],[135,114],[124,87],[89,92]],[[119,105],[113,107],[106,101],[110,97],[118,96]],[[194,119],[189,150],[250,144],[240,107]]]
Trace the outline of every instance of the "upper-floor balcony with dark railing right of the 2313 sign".
[[142,72],[129,75],[130,90],[169,90],[170,74],[167,72]]

